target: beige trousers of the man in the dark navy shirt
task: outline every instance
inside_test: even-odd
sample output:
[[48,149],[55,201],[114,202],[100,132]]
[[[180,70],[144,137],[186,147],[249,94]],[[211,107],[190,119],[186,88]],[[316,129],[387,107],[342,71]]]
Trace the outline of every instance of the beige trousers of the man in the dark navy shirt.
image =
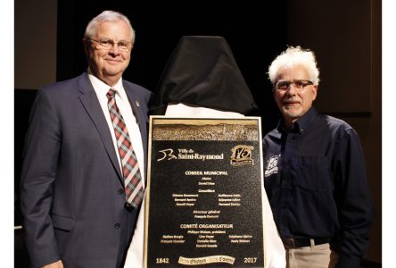
[[286,249],[287,268],[333,268],[337,260],[338,255],[329,243]]

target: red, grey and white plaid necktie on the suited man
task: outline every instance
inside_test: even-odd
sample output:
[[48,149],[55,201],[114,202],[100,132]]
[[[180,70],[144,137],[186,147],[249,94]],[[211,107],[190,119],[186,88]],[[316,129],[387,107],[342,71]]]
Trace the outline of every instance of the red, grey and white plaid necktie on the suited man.
[[117,147],[119,148],[122,175],[125,183],[126,202],[128,206],[137,207],[142,202],[144,196],[142,175],[137,164],[132,142],[129,138],[127,125],[116,104],[115,94],[116,91],[112,88],[107,92],[107,107],[109,108],[112,126],[114,127]]

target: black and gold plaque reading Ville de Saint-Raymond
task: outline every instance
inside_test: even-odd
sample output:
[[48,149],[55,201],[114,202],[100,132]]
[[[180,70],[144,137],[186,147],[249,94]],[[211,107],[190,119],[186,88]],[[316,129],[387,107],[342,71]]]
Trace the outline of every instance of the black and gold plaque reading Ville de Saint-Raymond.
[[264,267],[259,117],[152,116],[144,267]]

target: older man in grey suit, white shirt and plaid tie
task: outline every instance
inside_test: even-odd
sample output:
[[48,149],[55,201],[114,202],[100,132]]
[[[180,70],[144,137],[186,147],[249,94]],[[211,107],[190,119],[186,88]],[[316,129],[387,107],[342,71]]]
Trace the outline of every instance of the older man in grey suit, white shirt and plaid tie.
[[128,18],[87,25],[88,71],[37,93],[26,136],[21,211],[33,267],[121,267],[144,195],[151,92],[126,80]]

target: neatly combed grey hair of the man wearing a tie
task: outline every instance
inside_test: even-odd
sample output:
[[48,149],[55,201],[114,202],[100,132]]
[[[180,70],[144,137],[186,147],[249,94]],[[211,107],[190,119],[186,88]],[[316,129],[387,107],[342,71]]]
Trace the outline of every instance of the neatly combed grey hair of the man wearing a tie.
[[128,18],[121,13],[117,13],[117,12],[110,11],[110,10],[103,11],[103,13],[100,13],[94,19],[89,21],[89,23],[87,25],[86,33],[84,34],[84,37],[85,38],[94,37],[98,26],[105,21],[124,21],[128,25],[128,28],[130,29],[131,36],[132,36],[131,43],[132,43],[132,45],[134,45],[134,43],[135,43],[135,29],[132,28],[132,25],[131,25],[130,21],[128,20]]

